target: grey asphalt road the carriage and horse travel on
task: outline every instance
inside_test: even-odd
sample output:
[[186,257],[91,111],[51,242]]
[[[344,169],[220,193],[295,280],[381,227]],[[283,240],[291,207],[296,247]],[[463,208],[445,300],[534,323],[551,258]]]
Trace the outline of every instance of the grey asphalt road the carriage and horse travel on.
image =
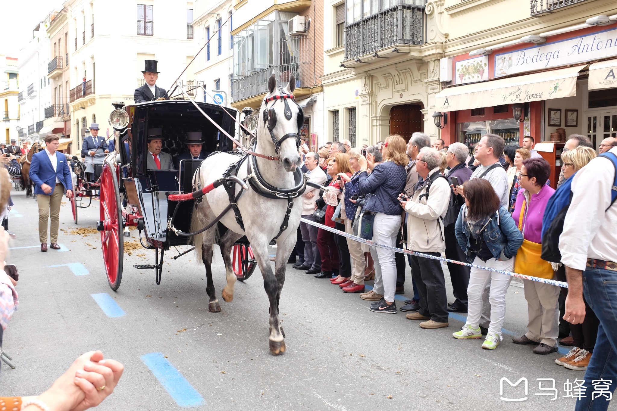
[[[8,261],[19,266],[20,304],[4,332],[4,349],[17,368],[0,366],[3,396],[41,393],[81,353],[101,349],[126,367],[101,410],[574,409],[575,400],[562,397],[563,384],[584,372],[555,365],[559,353],[538,356],[533,346],[511,343],[511,336],[526,331],[520,283],[508,290],[503,342],[489,351],[480,348],[482,340],[452,338],[465,314],[453,315],[449,328],[423,330],[402,312],[370,312],[358,295],[290,265],[280,303],[287,351],[275,357],[268,351],[268,304],[259,269],[236,283],[232,303],[219,298],[222,312],[211,313],[205,269],[193,253],[166,259],[157,286],[154,272],[132,267],[154,264],[154,251],[139,249],[125,255],[122,285],[114,292],[102,267],[99,235],[70,234],[76,226],[68,204],[60,214],[59,238],[67,251],[41,253],[36,202],[23,192],[12,194],[9,230],[17,238]],[[94,227],[98,214],[97,202],[80,210],[78,227]],[[135,242],[136,232],[126,240]],[[220,255],[213,272],[220,295]],[[409,273],[407,279],[411,288]],[[524,381],[516,388],[505,382],[503,397],[528,399],[502,401],[503,377],[512,383],[527,378],[528,395]],[[555,379],[556,400],[536,395],[550,394],[538,389],[537,378]]]

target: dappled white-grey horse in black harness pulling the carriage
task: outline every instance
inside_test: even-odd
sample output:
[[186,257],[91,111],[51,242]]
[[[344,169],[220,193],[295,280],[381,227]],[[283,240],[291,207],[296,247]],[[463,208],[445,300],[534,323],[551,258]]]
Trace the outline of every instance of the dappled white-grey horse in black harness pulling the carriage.
[[[268,101],[268,97],[289,97],[295,87],[296,79],[294,76],[291,76],[289,84],[284,89],[281,86],[276,87],[275,76],[270,76],[270,79],[268,79],[268,94],[263,99],[260,110],[260,113],[268,113],[270,120],[260,116],[259,125],[257,126],[255,152],[266,156],[279,157],[278,161],[255,157],[254,160],[257,163],[257,168],[259,168],[259,173],[264,176],[265,181],[281,189],[289,189],[297,184],[297,181],[294,181],[294,174],[297,174],[296,169],[300,166],[301,160],[297,147],[297,132],[299,130],[299,123],[303,121],[304,115],[302,109],[297,104],[276,97]],[[270,111],[268,112],[268,110]],[[272,118],[274,120],[271,120]],[[291,136],[289,136],[290,134]],[[278,150],[275,148],[273,139],[276,140],[277,144],[280,142]],[[237,155],[230,153],[217,153],[208,157],[203,161],[200,171],[193,177],[194,186],[197,186],[197,183],[199,183],[201,187],[204,187],[219,179],[225,173],[225,170],[238,160],[239,157]],[[252,159],[247,158],[239,167],[238,177],[241,179],[244,179],[249,174],[247,172],[249,160]],[[252,173],[255,173],[255,169],[252,170]],[[236,185],[236,193],[240,190],[242,189]],[[234,212],[230,210],[220,219],[220,222],[228,228],[225,234],[219,236],[217,225],[215,224],[204,233],[193,237],[193,244],[196,246],[197,253],[201,250],[202,261],[205,265],[207,277],[206,292],[210,297],[208,309],[211,312],[221,311],[212,282],[213,244],[218,243],[220,245],[223,261],[225,261],[227,285],[223,288],[222,296],[225,301],[230,302],[233,300],[234,283],[236,283],[236,275],[234,275],[231,267],[231,246],[242,235],[246,235],[249,242],[251,242],[253,254],[263,275],[263,287],[270,300],[270,351],[275,355],[282,354],[285,351],[285,343],[283,340],[283,327],[281,327],[279,320],[278,303],[283,283],[285,282],[286,264],[294,245],[296,245],[296,233],[300,223],[302,204],[299,198],[293,201],[286,229],[276,239],[278,247],[276,249],[275,272],[273,273],[268,254],[268,243],[279,234],[282,228],[281,224],[288,211],[288,201],[284,198],[273,199],[263,197],[263,195],[255,192],[253,187],[250,187],[249,190],[245,190],[241,194],[237,203],[242,214],[244,230],[236,221]],[[205,194],[203,201],[195,205],[191,221],[191,232],[207,226],[229,204],[228,193],[223,186]]]

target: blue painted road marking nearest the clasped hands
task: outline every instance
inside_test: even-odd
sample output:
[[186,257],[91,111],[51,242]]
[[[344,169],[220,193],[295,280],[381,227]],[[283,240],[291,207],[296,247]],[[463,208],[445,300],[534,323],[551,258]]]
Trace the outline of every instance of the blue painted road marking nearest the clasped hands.
[[178,370],[160,352],[151,352],[141,356],[141,360],[152,371],[159,383],[180,407],[197,407],[204,404],[204,399],[193,386],[186,381]]

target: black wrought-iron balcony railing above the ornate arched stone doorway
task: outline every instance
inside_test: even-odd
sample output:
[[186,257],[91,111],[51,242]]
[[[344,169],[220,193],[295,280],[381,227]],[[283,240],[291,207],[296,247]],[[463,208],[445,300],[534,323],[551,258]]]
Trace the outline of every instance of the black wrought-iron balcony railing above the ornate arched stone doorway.
[[399,4],[345,27],[345,59],[395,44],[422,44],[424,6]]

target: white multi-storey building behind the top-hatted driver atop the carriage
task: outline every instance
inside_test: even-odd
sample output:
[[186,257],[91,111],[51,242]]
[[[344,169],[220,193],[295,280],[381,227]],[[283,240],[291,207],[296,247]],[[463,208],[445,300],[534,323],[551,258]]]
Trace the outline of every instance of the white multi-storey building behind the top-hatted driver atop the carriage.
[[[68,0],[68,104],[73,146],[81,147],[90,123],[99,135],[112,134],[107,124],[112,102],[133,102],[144,83],[144,60],[158,60],[157,86],[173,88],[193,58],[193,32],[187,24],[192,2],[181,0]],[[187,80],[184,73],[180,78]],[[177,92],[176,92],[177,93]]]

